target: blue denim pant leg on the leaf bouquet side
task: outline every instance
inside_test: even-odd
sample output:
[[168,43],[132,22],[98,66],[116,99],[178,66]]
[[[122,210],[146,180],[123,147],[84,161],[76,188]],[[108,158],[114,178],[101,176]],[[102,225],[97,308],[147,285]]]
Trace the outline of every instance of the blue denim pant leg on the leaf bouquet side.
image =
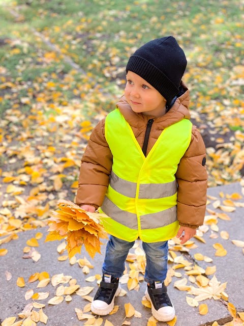
[[125,270],[125,261],[135,241],[128,242],[110,235],[102,267],[103,274],[121,277]]

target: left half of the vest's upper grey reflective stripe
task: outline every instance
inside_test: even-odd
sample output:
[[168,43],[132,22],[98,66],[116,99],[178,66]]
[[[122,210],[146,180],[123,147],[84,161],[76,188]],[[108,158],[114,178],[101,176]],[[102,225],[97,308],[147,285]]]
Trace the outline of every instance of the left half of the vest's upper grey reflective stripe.
[[119,194],[126,197],[136,197],[136,182],[127,181],[119,178],[113,171],[110,175],[110,186]]

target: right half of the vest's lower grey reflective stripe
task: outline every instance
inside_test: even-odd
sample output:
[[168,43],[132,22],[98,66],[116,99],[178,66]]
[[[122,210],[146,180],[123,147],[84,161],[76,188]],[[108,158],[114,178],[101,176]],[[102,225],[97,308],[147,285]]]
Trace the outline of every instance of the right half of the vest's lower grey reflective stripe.
[[169,225],[177,220],[176,206],[161,212],[140,216],[141,229],[156,229]]

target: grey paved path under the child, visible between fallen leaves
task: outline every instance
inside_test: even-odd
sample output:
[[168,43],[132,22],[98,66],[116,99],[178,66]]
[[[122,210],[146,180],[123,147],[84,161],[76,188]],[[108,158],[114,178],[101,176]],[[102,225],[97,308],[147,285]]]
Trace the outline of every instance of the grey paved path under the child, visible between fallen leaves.
[[[241,194],[241,186],[239,183],[230,184],[226,186],[220,186],[215,188],[208,189],[208,195],[216,196],[218,199],[223,201],[222,198],[219,197],[219,193],[223,192],[226,194],[232,194],[238,192]],[[237,202],[243,202],[242,199]],[[223,212],[219,208],[214,209],[212,207],[212,203],[215,201],[214,199],[210,199],[211,203],[208,204],[209,209],[215,210],[215,212]],[[230,217],[230,221],[224,221],[218,219],[218,227],[219,231],[211,231],[210,229],[203,235],[203,238],[206,240],[206,243],[199,241],[198,239],[194,239],[195,244],[197,244],[197,248],[191,249],[189,254],[184,255],[186,259],[193,263],[197,263],[199,266],[204,269],[207,266],[216,265],[216,277],[218,281],[221,283],[228,282],[226,292],[229,295],[229,302],[232,303],[237,311],[244,311],[244,280],[243,280],[243,252],[242,248],[236,247],[231,240],[244,240],[243,236],[243,208],[236,208],[234,212],[227,213]],[[208,214],[208,213],[207,213]],[[228,240],[224,240],[220,236],[221,231],[227,231],[229,233],[230,238]],[[32,237],[35,237],[37,232],[42,232],[43,237],[38,240],[39,247],[36,248],[37,251],[41,254],[41,258],[38,262],[34,262],[33,259],[23,259],[23,248],[26,246],[26,241]],[[37,230],[25,231],[19,233],[19,238],[17,240],[12,240],[8,243],[2,244],[1,248],[7,248],[8,253],[6,256],[0,257],[0,321],[3,321],[7,317],[13,317],[20,313],[26,304],[32,302],[32,299],[28,301],[25,300],[25,293],[28,289],[33,289],[34,292],[50,292],[49,297],[42,301],[36,301],[39,303],[44,303],[46,306],[43,308],[43,312],[48,316],[47,325],[49,326],[78,326],[83,325],[85,320],[79,321],[75,308],[83,309],[85,305],[89,303],[89,301],[85,300],[81,296],[73,293],[72,301],[66,302],[63,301],[61,304],[53,306],[48,305],[48,300],[55,295],[56,287],[54,288],[51,284],[48,284],[44,288],[37,289],[36,286],[38,281],[35,283],[27,283],[28,278],[34,273],[41,273],[42,271],[47,271],[50,277],[64,273],[64,275],[70,275],[72,278],[77,280],[77,284],[80,287],[84,286],[93,286],[93,291],[88,294],[93,296],[97,290],[97,283],[87,282],[85,279],[89,276],[95,276],[96,274],[101,274],[101,265],[103,262],[102,255],[96,255],[95,259],[92,260],[89,258],[87,254],[85,254],[82,249],[82,253],[80,257],[83,258],[84,255],[88,258],[88,260],[94,265],[94,268],[90,269],[88,275],[82,272],[82,268],[76,263],[71,265],[68,260],[66,261],[58,261],[57,258],[60,256],[57,253],[57,246],[60,244],[60,241],[53,242],[44,242],[45,235],[47,234],[47,228],[41,228]],[[211,234],[218,235],[218,238],[209,237]],[[215,252],[216,249],[212,247],[214,243],[221,243],[223,247],[227,250],[227,255],[224,257],[216,257]],[[102,252],[104,253],[105,246],[102,246]],[[134,253],[135,249],[132,249],[131,252]],[[201,253],[205,256],[208,256],[213,259],[211,263],[206,263],[204,261],[193,261],[194,254]],[[65,253],[64,253],[65,254]],[[182,253],[176,252],[177,255]],[[127,263],[129,268],[129,264]],[[173,264],[169,263],[169,267],[172,267]],[[12,279],[6,280],[6,271],[12,274]],[[184,269],[177,269],[182,274],[182,278],[185,277]],[[212,278],[213,275],[208,276]],[[20,288],[16,285],[16,280],[18,277],[23,277],[25,280],[25,287]],[[200,315],[199,310],[196,307],[190,307],[186,302],[186,291],[179,291],[173,287],[175,281],[179,280],[179,278],[173,277],[172,282],[168,286],[168,292],[174,303],[177,322],[176,326],[203,326],[203,325],[211,325],[212,322],[217,320],[220,325],[223,325],[225,322],[230,321],[231,317],[227,309],[227,303],[223,300],[205,300],[201,303],[206,303],[208,305],[208,313],[206,315]],[[188,281],[188,284],[190,282]],[[68,286],[68,284],[64,284]],[[141,304],[141,298],[144,295],[146,284],[144,282],[140,282],[139,291],[128,291],[127,284],[123,284],[122,288],[124,288],[128,293],[125,296],[118,297],[115,305],[119,305],[118,312],[103,317],[103,324],[105,320],[109,320],[112,322],[114,326],[120,326],[125,319],[125,308],[124,304],[131,303],[134,308],[142,314],[141,318],[131,317],[126,318],[126,320],[131,321],[132,326],[143,326],[147,324],[147,319],[151,316],[151,312],[149,308],[145,308]],[[187,294],[188,296],[191,296]],[[39,311],[39,309],[35,309]],[[90,314],[90,312],[88,312]],[[20,320],[20,319],[16,319]],[[43,323],[38,322],[37,325],[43,325]],[[166,323],[158,322],[158,326],[166,325]]]

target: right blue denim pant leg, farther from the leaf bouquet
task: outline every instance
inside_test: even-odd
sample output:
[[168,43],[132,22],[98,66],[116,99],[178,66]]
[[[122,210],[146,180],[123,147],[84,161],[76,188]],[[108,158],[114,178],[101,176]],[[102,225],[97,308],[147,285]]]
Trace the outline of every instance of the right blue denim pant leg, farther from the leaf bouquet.
[[142,242],[146,254],[146,270],[144,280],[147,283],[163,282],[167,275],[168,241]]

